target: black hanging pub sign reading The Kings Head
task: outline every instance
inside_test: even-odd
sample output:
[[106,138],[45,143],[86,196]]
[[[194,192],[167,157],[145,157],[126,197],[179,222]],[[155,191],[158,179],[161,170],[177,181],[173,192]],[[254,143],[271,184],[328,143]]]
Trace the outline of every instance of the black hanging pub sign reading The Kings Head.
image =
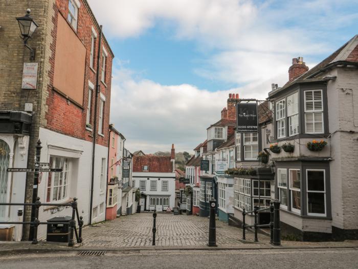
[[257,103],[236,104],[236,122],[237,133],[257,133]]

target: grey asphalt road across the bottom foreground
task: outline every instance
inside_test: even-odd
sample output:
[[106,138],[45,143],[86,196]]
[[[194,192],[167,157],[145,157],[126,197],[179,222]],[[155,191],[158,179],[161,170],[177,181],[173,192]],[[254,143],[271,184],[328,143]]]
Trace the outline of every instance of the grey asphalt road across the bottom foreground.
[[137,251],[79,256],[78,252],[0,256],[13,268],[357,268],[358,249],[256,251]]

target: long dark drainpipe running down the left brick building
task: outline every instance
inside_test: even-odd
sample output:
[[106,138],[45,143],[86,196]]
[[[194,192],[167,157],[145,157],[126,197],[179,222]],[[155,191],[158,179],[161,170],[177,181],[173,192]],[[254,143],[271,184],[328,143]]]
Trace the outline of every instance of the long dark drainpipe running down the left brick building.
[[91,175],[91,196],[89,197],[89,225],[92,224],[92,205],[93,205],[93,183],[95,177],[95,153],[96,153],[96,136],[97,136],[97,104],[98,104],[98,95],[100,93],[99,85],[99,60],[101,55],[101,46],[102,46],[102,25],[100,25],[99,31],[99,42],[98,42],[98,52],[97,52],[97,76],[96,76],[96,98],[95,98],[95,115],[93,123],[93,143],[92,143],[92,175]]

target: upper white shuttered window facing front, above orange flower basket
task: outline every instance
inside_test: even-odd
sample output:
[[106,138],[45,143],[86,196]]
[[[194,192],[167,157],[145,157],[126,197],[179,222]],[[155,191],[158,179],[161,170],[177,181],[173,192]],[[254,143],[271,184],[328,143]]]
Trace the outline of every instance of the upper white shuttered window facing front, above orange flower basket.
[[323,133],[323,93],[322,90],[304,92],[305,132]]

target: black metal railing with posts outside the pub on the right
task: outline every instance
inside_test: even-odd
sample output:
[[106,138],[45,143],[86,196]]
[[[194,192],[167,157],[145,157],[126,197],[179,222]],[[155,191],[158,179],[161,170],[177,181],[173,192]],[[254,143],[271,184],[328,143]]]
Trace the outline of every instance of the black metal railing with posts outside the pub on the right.
[[[275,200],[270,202],[270,208],[259,209],[257,205],[254,206],[254,210],[246,212],[245,209],[242,211],[242,240],[246,240],[245,230],[249,227],[254,227],[254,242],[258,242],[257,230],[259,228],[270,227],[270,244],[281,245],[280,238],[280,201]],[[258,224],[257,214],[270,210],[270,223],[269,224]],[[247,225],[245,223],[245,216],[247,214],[254,213],[254,225]]]

